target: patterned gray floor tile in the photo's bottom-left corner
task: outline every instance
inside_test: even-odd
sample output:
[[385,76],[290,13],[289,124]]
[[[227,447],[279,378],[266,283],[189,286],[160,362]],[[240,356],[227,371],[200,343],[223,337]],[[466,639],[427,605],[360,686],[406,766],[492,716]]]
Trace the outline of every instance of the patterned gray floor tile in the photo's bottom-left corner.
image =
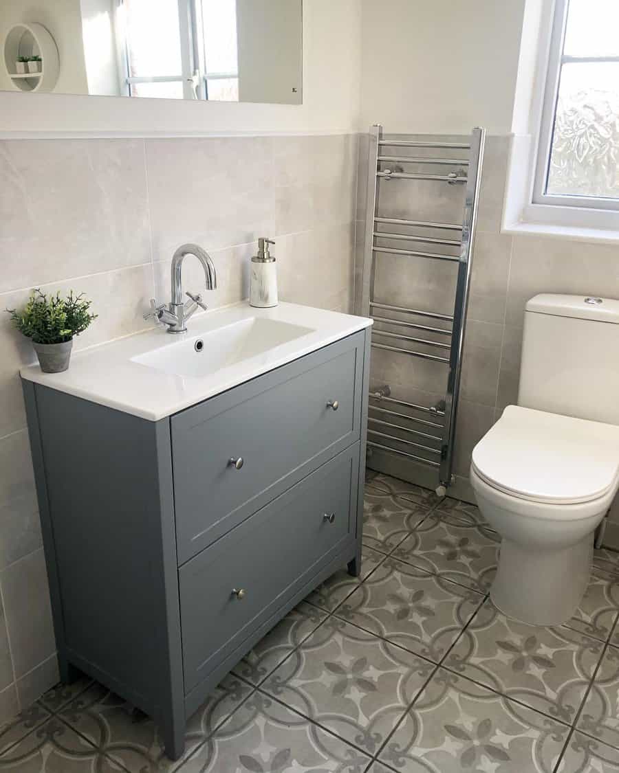
[[0,771],[118,773],[123,768],[75,730],[52,717],[0,755]]

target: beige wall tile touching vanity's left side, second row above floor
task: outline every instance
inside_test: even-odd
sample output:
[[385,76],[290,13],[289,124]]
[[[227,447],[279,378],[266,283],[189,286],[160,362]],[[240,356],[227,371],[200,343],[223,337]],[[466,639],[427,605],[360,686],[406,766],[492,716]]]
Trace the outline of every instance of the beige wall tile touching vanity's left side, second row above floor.
[[15,677],[25,676],[56,652],[43,550],[0,572]]

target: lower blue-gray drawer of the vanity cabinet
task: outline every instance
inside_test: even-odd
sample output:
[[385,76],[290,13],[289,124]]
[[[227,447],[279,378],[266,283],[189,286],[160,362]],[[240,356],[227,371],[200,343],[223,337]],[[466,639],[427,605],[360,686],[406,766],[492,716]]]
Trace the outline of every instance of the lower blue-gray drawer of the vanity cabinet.
[[354,539],[359,447],[180,567],[185,693]]

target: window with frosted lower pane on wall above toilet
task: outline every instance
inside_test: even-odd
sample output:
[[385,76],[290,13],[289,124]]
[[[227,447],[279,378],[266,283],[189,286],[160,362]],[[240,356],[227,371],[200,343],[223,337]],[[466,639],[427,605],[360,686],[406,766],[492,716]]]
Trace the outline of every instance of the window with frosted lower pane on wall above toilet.
[[619,0],[557,0],[533,202],[619,209]]

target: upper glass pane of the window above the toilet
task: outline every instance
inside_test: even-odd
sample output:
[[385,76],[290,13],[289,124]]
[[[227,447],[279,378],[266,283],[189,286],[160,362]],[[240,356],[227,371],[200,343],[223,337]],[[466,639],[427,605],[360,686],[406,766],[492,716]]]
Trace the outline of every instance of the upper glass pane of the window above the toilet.
[[619,56],[619,0],[569,0],[566,56]]

